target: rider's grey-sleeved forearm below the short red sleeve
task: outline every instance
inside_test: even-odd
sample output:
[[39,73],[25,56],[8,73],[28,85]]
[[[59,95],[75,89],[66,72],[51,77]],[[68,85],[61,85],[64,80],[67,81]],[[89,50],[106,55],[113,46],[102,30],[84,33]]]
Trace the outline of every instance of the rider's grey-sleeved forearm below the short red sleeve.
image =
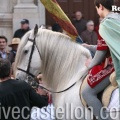
[[107,50],[97,50],[95,53],[94,58],[92,59],[90,65],[88,66],[88,69],[90,70],[95,65],[100,64],[106,57]]

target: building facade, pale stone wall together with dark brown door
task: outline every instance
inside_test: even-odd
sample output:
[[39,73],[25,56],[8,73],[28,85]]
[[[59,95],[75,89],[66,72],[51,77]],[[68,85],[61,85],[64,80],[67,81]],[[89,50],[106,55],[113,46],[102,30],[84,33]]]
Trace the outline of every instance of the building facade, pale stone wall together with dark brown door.
[[[115,0],[120,6],[120,0]],[[98,24],[98,15],[95,10],[94,0],[57,0],[61,8],[70,18],[80,10],[85,19],[94,20]],[[20,28],[22,19],[30,21],[30,28],[35,24],[52,25],[55,23],[50,14],[45,10],[40,0],[0,0],[0,35],[5,35],[11,41],[16,29]]]

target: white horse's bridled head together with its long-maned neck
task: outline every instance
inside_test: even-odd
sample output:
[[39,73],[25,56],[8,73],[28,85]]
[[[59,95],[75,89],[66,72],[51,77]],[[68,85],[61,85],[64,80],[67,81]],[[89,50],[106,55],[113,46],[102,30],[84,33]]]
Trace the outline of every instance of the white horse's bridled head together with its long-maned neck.
[[65,87],[69,81],[74,83],[72,79],[80,78],[90,57],[87,49],[67,35],[36,26],[22,38],[18,47],[16,78],[25,80],[42,72],[47,86],[61,89],[59,86]]

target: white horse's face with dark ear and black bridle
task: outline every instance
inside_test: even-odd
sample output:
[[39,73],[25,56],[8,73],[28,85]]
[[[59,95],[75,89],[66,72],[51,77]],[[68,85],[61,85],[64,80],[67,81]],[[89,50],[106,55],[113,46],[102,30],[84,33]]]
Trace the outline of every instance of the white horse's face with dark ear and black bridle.
[[28,80],[41,72],[41,57],[36,46],[38,26],[27,32],[18,47],[15,60],[15,76],[20,80]]

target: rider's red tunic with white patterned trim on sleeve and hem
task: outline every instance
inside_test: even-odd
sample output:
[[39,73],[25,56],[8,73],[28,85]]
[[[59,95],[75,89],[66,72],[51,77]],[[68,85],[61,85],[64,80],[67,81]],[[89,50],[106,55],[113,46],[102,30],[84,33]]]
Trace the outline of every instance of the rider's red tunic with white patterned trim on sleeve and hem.
[[[98,40],[97,50],[109,50],[103,39]],[[93,88],[97,84],[99,84],[104,78],[110,75],[114,71],[114,66],[112,63],[112,58],[107,57],[106,59],[99,65],[94,66],[88,75],[88,84]]]

